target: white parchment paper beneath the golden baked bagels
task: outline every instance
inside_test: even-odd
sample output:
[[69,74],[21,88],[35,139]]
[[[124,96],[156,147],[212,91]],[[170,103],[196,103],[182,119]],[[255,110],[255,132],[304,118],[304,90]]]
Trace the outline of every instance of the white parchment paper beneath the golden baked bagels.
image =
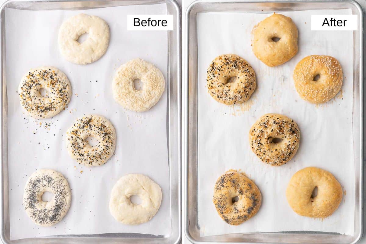
[[[247,232],[322,231],[354,233],[355,170],[352,140],[353,35],[352,31],[311,31],[311,14],[351,14],[351,10],[281,12],[299,30],[299,51],[279,67],[267,67],[251,49],[251,30],[271,14],[199,13],[198,42],[198,224],[201,236]],[[209,45],[208,45],[209,44]],[[207,92],[206,71],[214,57],[235,53],[246,59],[257,77],[257,89],[244,104],[227,106]],[[343,69],[341,92],[326,104],[302,100],[292,72],[308,55],[330,55]],[[249,129],[265,113],[280,113],[296,121],[300,147],[287,164],[264,164],[251,151]],[[325,219],[297,215],[287,203],[285,190],[298,170],[316,166],[331,172],[344,190],[339,209]],[[262,193],[262,206],[239,226],[226,224],[212,203],[213,188],[221,174],[241,169]]]

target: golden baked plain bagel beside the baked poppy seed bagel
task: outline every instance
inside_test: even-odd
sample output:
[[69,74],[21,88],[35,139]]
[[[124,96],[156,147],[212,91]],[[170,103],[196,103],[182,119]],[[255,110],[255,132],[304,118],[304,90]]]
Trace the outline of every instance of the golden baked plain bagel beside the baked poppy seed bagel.
[[[317,187],[317,195],[313,195]],[[328,171],[307,167],[292,177],[286,189],[287,202],[295,213],[311,217],[326,218],[339,207],[343,196],[342,187]]]

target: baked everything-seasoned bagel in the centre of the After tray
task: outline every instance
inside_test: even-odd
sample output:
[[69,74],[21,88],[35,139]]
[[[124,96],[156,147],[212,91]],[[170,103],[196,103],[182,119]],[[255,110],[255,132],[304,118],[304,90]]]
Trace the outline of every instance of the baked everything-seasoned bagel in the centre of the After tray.
[[249,143],[262,162],[280,166],[296,154],[300,143],[300,130],[294,120],[284,115],[268,113],[250,128]]

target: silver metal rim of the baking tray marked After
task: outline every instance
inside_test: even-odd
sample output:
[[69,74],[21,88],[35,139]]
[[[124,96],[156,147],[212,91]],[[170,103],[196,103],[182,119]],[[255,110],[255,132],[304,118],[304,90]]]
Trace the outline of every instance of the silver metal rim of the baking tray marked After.
[[[184,80],[184,103],[185,103],[185,110],[183,111],[184,113],[184,117],[183,117],[183,126],[185,128],[185,133],[183,135],[183,153],[184,153],[184,163],[185,163],[185,167],[184,167],[184,178],[185,178],[185,185],[184,185],[184,195],[185,195],[185,201],[184,201],[184,208],[185,208],[185,215],[184,215],[184,232],[185,235],[187,237],[187,239],[189,241],[191,241],[194,244],[207,244],[207,243],[218,243],[219,241],[214,240],[214,241],[204,241],[204,240],[199,240],[199,238],[196,238],[194,236],[191,235],[190,233],[190,219],[188,217],[189,215],[189,197],[188,197],[188,185],[191,184],[190,183],[190,179],[192,179],[193,177],[196,177],[197,179],[197,170],[196,172],[193,172],[193,176],[189,175],[189,152],[190,152],[190,144],[188,142],[188,138],[190,135],[190,131],[189,131],[189,126],[193,123],[191,123],[190,119],[189,119],[189,108],[190,108],[190,102],[189,102],[189,98],[190,98],[190,94],[191,94],[191,90],[189,87],[189,80],[190,80],[190,41],[193,43],[193,45],[196,46],[196,50],[195,50],[195,57],[191,59],[191,62],[194,62],[196,65],[195,68],[195,73],[193,74],[196,77],[197,80],[197,39],[191,38],[190,37],[190,15],[191,15],[191,11],[194,10],[194,7],[196,7],[196,5],[198,4],[224,4],[224,3],[228,3],[228,4],[236,4],[236,3],[241,3],[241,4],[245,4],[245,3],[250,3],[250,4],[264,4],[264,3],[272,3],[272,4],[301,4],[301,3],[349,3],[354,5],[354,7],[358,10],[358,14],[360,16],[359,21],[359,27],[360,29],[358,30],[359,32],[359,67],[355,67],[354,68],[354,73],[355,73],[355,69],[358,68],[358,79],[359,79],[359,133],[360,133],[360,148],[359,148],[359,185],[356,185],[356,189],[358,187],[358,194],[359,194],[359,199],[358,199],[358,203],[357,205],[359,206],[359,217],[358,217],[358,224],[359,224],[359,234],[355,237],[355,239],[351,242],[348,242],[347,244],[356,244],[358,243],[362,236],[363,236],[363,141],[364,141],[364,135],[363,135],[363,89],[364,89],[364,80],[363,80],[363,34],[364,34],[364,26],[363,26],[363,22],[364,22],[364,12],[362,10],[361,5],[356,2],[355,0],[329,0],[329,1],[324,1],[324,0],[310,0],[310,1],[294,1],[294,0],[282,0],[282,1],[277,1],[277,0],[251,0],[251,1],[246,1],[246,0],[196,0],[193,3],[191,3],[186,10],[186,29],[185,29],[185,33],[186,33],[186,38],[185,38],[185,80]],[[277,6],[278,7],[278,6]],[[288,10],[287,10],[288,11]],[[197,12],[194,13],[195,15],[197,14]],[[196,19],[194,19],[195,21]],[[354,49],[356,50],[356,49]],[[356,60],[356,57],[354,57],[354,60]],[[197,111],[194,111],[195,113],[197,113]],[[366,119],[366,118],[365,118]],[[194,133],[194,132],[192,132]],[[196,135],[197,135],[197,128],[196,128]],[[194,153],[197,154],[197,153]],[[197,165],[196,165],[197,166]],[[196,185],[196,197],[197,197],[197,185]],[[195,202],[196,206],[194,208],[194,211],[197,211],[197,201]],[[355,210],[356,211],[356,210]],[[355,217],[355,221],[356,221]],[[195,219],[195,224],[197,224],[197,218]],[[197,228],[197,226],[196,226]],[[298,232],[275,232],[275,233],[270,233],[273,235],[287,235],[287,234],[295,234],[295,233],[299,233],[299,234],[305,234],[305,233],[310,233],[310,234],[315,234],[315,235],[321,235],[321,234],[325,234],[330,236],[340,236],[340,234],[338,233],[324,233],[324,232],[305,232],[305,231],[298,231]],[[240,237],[238,236],[232,236],[232,235],[246,235],[246,234],[262,234],[261,232],[253,232],[253,233],[238,233],[238,234],[223,234],[223,235],[219,235],[219,236],[231,236],[231,239],[236,239],[236,241],[230,241],[230,242],[224,242],[223,243],[231,243],[231,244],[239,244],[239,243],[258,243],[258,240],[255,241],[251,241],[251,242],[244,242]],[[219,237],[219,236],[211,236],[211,237]],[[202,239],[202,238],[201,238]],[[276,243],[285,243],[284,242],[285,239],[282,239],[282,241],[276,241]],[[309,241],[309,240],[307,240]],[[303,242],[301,239],[298,239],[296,241],[296,243],[307,243]],[[263,243],[272,243],[272,242],[268,242],[268,241],[261,241]],[[286,242],[287,243],[287,242]],[[310,242],[309,242],[310,243]],[[313,241],[311,241],[311,243],[314,243]],[[326,242],[328,243],[328,242]]]

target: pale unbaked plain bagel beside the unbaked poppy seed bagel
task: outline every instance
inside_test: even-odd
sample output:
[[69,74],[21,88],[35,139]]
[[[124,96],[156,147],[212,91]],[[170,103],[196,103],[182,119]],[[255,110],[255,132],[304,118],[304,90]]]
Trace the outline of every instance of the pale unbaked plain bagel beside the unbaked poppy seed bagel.
[[[130,197],[133,195],[141,198],[141,204],[131,202]],[[142,224],[157,213],[161,198],[160,186],[149,177],[143,174],[127,174],[112,189],[109,211],[122,224]]]

